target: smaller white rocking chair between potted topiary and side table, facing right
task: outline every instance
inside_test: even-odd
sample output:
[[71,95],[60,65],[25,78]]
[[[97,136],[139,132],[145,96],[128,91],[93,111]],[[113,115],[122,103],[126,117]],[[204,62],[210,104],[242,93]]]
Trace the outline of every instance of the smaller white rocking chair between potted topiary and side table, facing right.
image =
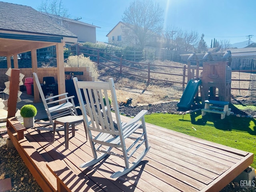
[[[52,125],[51,127],[38,127],[38,130],[50,130],[53,131],[53,126],[54,126],[54,122],[53,119],[56,119],[58,117],[62,117],[62,116],[66,116],[66,115],[78,115],[76,112],[76,106],[74,104],[74,96],[70,96],[68,97],[68,93],[64,93],[64,94],[60,94],[60,95],[56,95],[56,96],[52,96],[50,98],[45,98],[44,97],[44,92],[41,88],[40,82],[38,80],[38,76],[37,74],[34,72],[33,73],[34,76],[34,80],[36,82],[36,85],[38,87],[42,102],[44,104],[44,108],[46,110],[46,114],[48,116],[49,121],[46,122],[37,122],[38,124],[44,124],[44,125]],[[64,98],[59,98],[59,97],[63,97]],[[58,100],[54,100],[55,98],[58,98]],[[51,101],[51,102],[47,102],[47,101]],[[71,102],[69,101],[71,100]],[[59,102],[63,102],[62,104],[59,104]],[[56,131],[59,130],[64,130],[64,128],[56,128]]]

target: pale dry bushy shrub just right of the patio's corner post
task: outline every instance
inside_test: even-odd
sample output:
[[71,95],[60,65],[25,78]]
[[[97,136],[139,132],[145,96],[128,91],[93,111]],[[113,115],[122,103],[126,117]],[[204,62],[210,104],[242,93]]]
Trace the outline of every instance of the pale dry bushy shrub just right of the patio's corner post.
[[85,57],[83,54],[79,56],[69,56],[67,61],[64,64],[65,67],[89,67],[92,72],[92,76],[95,77],[95,80],[98,79],[98,68],[97,65],[90,60],[90,57]]

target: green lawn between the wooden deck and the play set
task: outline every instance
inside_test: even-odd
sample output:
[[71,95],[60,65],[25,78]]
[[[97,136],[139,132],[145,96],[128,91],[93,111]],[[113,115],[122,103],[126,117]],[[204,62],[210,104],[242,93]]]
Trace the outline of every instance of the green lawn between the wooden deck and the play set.
[[[202,118],[199,110],[186,115],[149,114],[145,116],[145,120],[147,123],[176,132],[256,154],[256,120],[254,118],[230,115],[220,119],[220,114],[209,113]],[[256,155],[251,166],[256,168]]]

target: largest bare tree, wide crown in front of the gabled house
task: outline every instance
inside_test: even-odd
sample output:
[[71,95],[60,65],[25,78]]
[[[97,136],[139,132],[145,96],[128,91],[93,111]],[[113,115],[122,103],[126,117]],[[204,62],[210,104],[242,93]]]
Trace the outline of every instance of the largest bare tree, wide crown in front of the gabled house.
[[[163,28],[163,9],[152,0],[135,0],[124,11],[123,22],[127,23],[138,41],[138,48],[143,50],[150,38],[161,34]],[[129,36],[127,37],[129,38]]]

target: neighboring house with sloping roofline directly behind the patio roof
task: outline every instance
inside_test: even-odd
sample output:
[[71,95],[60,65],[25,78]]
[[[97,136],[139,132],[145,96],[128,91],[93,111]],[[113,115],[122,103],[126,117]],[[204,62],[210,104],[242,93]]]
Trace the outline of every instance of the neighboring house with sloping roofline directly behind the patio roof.
[[78,37],[78,42],[96,43],[96,28],[100,27],[66,17],[55,17],[56,19],[54,19],[54,17],[55,16],[50,16],[50,18],[60,26],[74,33]]

